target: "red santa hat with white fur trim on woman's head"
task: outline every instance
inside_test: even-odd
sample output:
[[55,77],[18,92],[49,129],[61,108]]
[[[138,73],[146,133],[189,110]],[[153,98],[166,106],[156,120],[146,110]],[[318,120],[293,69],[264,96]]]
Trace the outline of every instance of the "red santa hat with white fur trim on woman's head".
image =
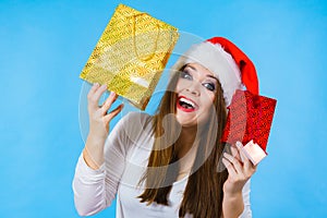
[[230,40],[214,37],[192,46],[172,66],[180,70],[187,63],[198,63],[219,80],[226,105],[229,106],[237,89],[243,85],[253,94],[258,94],[258,81],[254,64],[246,55]]

